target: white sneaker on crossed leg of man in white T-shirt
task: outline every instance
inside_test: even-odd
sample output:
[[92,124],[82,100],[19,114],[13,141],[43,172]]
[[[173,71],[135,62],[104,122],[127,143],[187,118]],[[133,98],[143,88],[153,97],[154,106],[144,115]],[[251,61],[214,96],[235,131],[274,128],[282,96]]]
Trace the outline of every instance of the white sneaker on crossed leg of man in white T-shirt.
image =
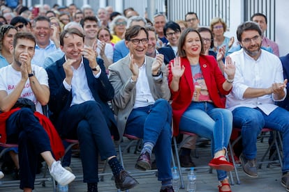
[[62,186],[71,183],[75,179],[75,175],[61,166],[60,161],[54,161],[49,169],[50,175]]

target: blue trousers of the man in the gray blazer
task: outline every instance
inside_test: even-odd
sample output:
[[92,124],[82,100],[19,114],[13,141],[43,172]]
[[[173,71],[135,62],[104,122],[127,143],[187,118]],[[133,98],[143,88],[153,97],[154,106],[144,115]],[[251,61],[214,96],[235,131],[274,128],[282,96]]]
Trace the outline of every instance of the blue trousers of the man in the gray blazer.
[[167,100],[157,99],[152,105],[133,109],[126,121],[126,134],[154,144],[158,180],[172,179],[172,108]]

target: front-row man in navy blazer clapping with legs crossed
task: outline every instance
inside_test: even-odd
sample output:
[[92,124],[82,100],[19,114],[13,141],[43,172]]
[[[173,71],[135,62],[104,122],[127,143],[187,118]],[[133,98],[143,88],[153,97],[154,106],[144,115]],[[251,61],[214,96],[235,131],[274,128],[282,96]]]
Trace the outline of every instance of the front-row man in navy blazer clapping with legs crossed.
[[92,47],[84,47],[84,35],[78,29],[63,31],[60,45],[65,56],[46,69],[49,107],[59,134],[63,138],[77,138],[80,143],[87,191],[97,191],[98,152],[102,160],[108,159],[117,189],[131,189],[138,182],[119,163],[111,139],[112,134],[118,140],[119,134],[108,106],[114,88],[105,74],[103,61],[96,59]]

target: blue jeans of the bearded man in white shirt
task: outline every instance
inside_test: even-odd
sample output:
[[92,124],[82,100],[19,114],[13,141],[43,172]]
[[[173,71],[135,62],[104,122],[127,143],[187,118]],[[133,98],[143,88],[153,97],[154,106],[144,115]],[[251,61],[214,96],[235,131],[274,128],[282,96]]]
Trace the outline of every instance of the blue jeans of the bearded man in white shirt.
[[277,107],[266,115],[258,108],[237,107],[232,111],[233,123],[242,128],[243,154],[246,159],[254,159],[257,154],[257,136],[263,127],[280,131],[283,135],[283,168],[289,171],[289,111]]

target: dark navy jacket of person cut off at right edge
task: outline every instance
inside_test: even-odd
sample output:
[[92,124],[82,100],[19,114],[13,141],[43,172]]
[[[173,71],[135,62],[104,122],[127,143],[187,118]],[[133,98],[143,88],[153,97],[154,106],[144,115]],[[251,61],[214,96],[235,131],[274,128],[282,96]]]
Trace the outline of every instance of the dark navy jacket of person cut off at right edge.
[[[280,60],[283,66],[284,79],[289,80],[289,54],[287,54],[286,56],[281,56]],[[286,89],[287,89],[286,98],[282,102],[276,102],[276,104],[289,111],[289,82],[287,83]]]

